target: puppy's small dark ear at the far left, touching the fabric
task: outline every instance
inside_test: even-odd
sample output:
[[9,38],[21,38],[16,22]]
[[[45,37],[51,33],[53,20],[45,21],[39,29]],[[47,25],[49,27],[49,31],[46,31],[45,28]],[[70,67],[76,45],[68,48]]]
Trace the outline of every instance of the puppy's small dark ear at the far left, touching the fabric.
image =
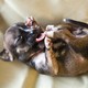
[[9,52],[3,50],[3,51],[0,52],[0,59],[7,61],[7,62],[12,62],[13,61],[13,56]]

